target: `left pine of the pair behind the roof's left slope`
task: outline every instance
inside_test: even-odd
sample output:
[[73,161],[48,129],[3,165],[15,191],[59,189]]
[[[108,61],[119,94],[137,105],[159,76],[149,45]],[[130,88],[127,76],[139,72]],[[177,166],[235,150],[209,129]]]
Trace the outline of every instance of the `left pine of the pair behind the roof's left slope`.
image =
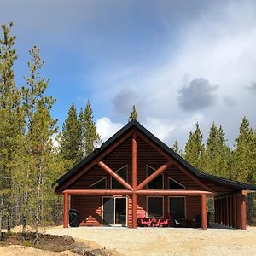
[[67,119],[62,127],[61,155],[62,159],[67,161],[67,168],[78,163],[83,157],[82,126],[74,103],[69,108]]

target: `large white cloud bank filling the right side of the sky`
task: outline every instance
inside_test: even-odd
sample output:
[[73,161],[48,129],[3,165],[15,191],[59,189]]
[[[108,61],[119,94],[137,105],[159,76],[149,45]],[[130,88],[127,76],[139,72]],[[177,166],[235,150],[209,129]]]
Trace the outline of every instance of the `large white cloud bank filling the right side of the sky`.
[[[201,122],[205,138],[213,121],[223,125],[230,145],[238,135],[244,115],[256,125],[253,113],[256,102],[246,88],[256,79],[255,4],[229,2],[221,7],[217,5],[189,20],[180,30],[175,54],[170,38],[170,48],[166,47],[165,53],[160,49],[160,55],[166,57],[161,62],[157,60],[158,67],[152,63],[143,68],[134,67],[137,71],[125,80],[119,79],[113,84],[115,94],[112,90],[108,95],[113,99],[121,90],[129,88],[141,100],[146,98],[147,106],[143,106],[143,113],[139,112],[139,120],[166,143],[171,143],[175,136],[183,147],[196,121]],[[179,108],[178,91],[196,77],[218,84],[216,104],[186,113]]]

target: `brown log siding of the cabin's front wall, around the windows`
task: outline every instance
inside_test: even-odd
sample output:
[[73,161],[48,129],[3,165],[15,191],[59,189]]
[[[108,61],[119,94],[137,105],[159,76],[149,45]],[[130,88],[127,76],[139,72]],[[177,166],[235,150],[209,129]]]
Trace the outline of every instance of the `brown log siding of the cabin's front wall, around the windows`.
[[[127,139],[113,152],[108,154],[103,161],[113,170],[118,170],[122,166],[128,166],[128,182],[131,184],[131,138]],[[158,151],[144,142],[142,138],[137,137],[137,184],[141,183],[146,177],[146,166],[152,166],[158,169],[168,160],[161,155]],[[183,184],[186,189],[200,189],[205,190],[198,183],[195,183],[187,174],[185,174],[179,166],[172,165],[165,172],[164,175],[164,189],[167,188],[167,179],[171,177],[178,183]],[[94,166],[90,171],[86,172],[79,180],[71,184],[68,189],[89,189],[92,183],[100,180],[102,177],[107,177],[107,189],[111,189],[111,177],[107,172],[103,171],[101,167]],[[230,189],[219,187],[214,183],[207,183],[211,189],[216,191],[227,192]],[[146,209],[146,196],[137,197],[137,213],[145,212]],[[168,216],[169,209],[167,204],[167,197],[165,199],[165,216]],[[81,225],[101,225],[102,224],[102,197],[101,196],[88,196],[88,195],[72,195],[71,206],[79,210]],[[128,226],[131,226],[131,198],[128,197]],[[197,214],[201,213],[201,197],[193,196],[186,197],[186,218],[195,218]]]

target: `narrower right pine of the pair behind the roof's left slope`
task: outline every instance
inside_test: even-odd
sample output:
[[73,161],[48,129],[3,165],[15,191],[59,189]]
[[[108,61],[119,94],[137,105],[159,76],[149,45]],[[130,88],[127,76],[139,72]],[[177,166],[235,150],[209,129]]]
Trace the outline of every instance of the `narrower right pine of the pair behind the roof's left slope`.
[[96,131],[96,123],[93,120],[92,108],[90,101],[88,100],[84,109],[84,124],[83,124],[83,141],[85,156],[90,154],[93,150],[93,142],[96,139],[101,139],[100,135]]

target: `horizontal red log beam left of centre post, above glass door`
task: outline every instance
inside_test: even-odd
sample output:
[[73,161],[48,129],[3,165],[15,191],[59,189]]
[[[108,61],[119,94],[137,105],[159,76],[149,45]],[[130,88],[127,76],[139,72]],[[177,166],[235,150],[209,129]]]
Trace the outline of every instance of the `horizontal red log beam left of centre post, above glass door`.
[[126,189],[67,189],[63,193],[68,195],[131,195]]

